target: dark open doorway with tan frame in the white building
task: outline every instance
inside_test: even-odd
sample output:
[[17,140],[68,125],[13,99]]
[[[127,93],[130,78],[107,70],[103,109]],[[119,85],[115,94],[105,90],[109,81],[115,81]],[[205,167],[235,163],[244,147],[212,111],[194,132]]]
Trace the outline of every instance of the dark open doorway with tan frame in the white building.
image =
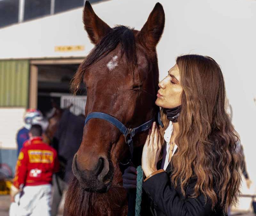
[[[75,115],[84,114],[86,103],[84,84],[80,85],[76,96],[70,92],[70,81],[76,73],[79,62],[35,60],[32,63],[34,64],[31,66],[30,75],[30,104],[33,104],[31,99],[34,98],[36,108],[44,115],[52,109],[52,101],[60,108],[67,108],[72,104],[71,112]],[[37,93],[33,92],[33,82]]]

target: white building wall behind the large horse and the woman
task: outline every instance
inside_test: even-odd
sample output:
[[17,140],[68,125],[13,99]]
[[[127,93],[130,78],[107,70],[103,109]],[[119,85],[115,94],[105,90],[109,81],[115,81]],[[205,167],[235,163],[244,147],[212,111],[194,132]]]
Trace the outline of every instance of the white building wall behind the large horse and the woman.
[[[140,29],[155,0],[112,0],[93,4],[111,27],[123,24]],[[163,37],[157,47],[160,78],[180,54],[214,58],[225,76],[233,108],[233,123],[240,133],[249,175],[256,182],[256,1],[162,0],[166,14]],[[59,45],[84,45],[79,52],[54,52]],[[82,23],[82,8],[0,29],[0,59],[85,56],[93,45]],[[253,185],[255,190],[255,184]],[[243,192],[249,193],[243,185]],[[256,192],[256,191],[254,191]],[[243,208],[249,206],[248,202]]]

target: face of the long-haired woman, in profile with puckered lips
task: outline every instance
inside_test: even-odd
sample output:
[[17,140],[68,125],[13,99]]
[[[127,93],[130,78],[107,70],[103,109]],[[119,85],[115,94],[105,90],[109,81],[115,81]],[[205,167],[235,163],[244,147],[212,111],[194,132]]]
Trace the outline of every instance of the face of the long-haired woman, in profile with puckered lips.
[[180,71],[175,64],[168,75],[158,84],[156,105],[163,108],[175,108],[181,105],[182,87],[180,85]]

